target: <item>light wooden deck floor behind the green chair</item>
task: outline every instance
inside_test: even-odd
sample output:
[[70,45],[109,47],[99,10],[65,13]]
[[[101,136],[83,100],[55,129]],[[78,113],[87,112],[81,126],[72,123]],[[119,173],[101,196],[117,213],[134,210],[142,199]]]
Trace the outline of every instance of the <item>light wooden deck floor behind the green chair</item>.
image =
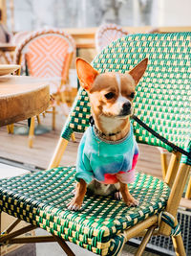
[[[46,118],[41,118],[42,125],[51,128],[51,114]],[[46,169],[49,165],[56,143],[65,118],[56,115],[56,129],[42,135],[35,135],[33,148],[28,148],[28,136],[8,134],[7,128],[0,128],[0,161],[2,158],[20,162],[30,167]],[[15,127],[27,126],[26,122],[15,124]],[[62,157],[61,165],[74,165],[76,159],[77,145],[81,135],[75,134],[76,143],[70,142],[67,150]],[[150,146],[139,145],[139,158],[137,170],[161,176],[159,151]]]

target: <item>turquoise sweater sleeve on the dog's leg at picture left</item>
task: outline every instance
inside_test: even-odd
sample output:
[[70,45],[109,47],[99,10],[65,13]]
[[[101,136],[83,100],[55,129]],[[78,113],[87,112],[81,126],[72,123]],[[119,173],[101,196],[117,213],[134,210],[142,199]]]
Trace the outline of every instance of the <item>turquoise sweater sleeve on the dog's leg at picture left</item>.
[[89,184],[94,179],[94,174],[90,165],[90,161],[84,152],[85,141],[86,134],[84,133],[77,151],[75,179],[79,181],[79,179],[82,178],[84,181],[86,181],[87,184]]

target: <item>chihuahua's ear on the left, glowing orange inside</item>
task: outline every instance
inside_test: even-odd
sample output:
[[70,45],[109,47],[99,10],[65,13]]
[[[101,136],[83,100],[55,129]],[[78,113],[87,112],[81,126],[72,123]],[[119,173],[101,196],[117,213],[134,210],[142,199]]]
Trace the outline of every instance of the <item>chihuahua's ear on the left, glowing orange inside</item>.
[[94,69],[86,60],[83,58],[76,59],[76,71],[77,77],[80,81],[80,85],[87,91],[90,91],[93,82],[98,75],[96,69]]

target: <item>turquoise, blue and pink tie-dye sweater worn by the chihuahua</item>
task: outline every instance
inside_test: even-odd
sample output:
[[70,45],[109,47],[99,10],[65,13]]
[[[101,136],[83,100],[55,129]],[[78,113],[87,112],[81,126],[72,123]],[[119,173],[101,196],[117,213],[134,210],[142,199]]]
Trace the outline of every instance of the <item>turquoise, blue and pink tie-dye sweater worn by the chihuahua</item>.
[[105,184],[120,180],[131,183],[135,179],[138,144],[131,126],[129,134],[120,141],[105,141],[96,136],[94,127],[84,132],[80,141],[75,178],[89,184],[93,179]]

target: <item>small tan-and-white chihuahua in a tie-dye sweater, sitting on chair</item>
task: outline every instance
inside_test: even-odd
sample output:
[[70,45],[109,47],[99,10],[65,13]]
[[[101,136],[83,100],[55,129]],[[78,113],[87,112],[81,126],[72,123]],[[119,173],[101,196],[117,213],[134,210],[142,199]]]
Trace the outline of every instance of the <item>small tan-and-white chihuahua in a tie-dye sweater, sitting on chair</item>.
[[76,175],[77,185],[70,210],[79,210],[87,187],[96,195],[116,193],[127,206],[138,200],[128,190],[135,180],[138,145],[133,135],[130,116],[138,81],[147,67],[144,58],[127,74],[99,74],[82,58],[76,59],[80,85],[88,92],[94,124],[86,129],[80,141]]

